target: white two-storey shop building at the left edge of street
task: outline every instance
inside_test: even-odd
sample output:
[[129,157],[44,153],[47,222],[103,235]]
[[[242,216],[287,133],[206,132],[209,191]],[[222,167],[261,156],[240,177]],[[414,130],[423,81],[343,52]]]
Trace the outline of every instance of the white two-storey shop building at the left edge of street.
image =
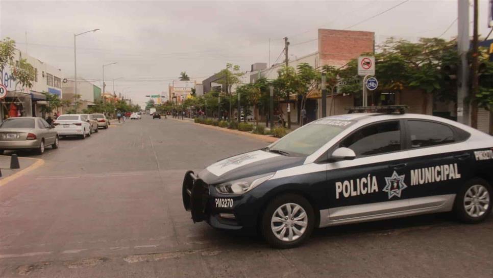
[[31,88],[22,87],[12,76],[10,66],[0,73],[0,83],[7,88],[7,96],[0,109],[0,120],[8,117],[44,117],[41,107],[45,106],[46,97],[42,92],[62,97],[63,75],[60,69],[37,58],[31,57],[20,50],[15,51],[14,61],[26,59],[34,67],[34,82]]

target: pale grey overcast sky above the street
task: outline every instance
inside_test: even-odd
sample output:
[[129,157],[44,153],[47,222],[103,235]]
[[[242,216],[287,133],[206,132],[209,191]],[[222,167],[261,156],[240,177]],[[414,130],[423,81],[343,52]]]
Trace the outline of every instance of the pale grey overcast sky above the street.
[[[0,37],[73,76],[73,33],[77,37],[78,76],[100,85],[102,65],[107,91],[125,91],[143,104],[145,95],[168,90],[186,71],[202,80],[227,62],[244,71],[255,62],[279,57],[285,36],[291,44],[317,37],[317,28],[346,29],[398,1],[0,1]],[[472,1],[471,1],[472,2]],[[480,1],[480,34],[486,36],[487,0]],[[471,8],[472,13],[472,8]],[[409,40],[457,34],[457,0],[410,0],[350,30],[373,31],[377,43],[388,36]],[[472,20],[472,15],[470,19]],[[471,25],[472,30],[472,25]],[[27,43],[26,43],[27,32]],[[471,31],[472,34],[472,31]],[[293,45],[291,59],[316,51],[317,42]],[[280,58],[282,59],[282,58]]]

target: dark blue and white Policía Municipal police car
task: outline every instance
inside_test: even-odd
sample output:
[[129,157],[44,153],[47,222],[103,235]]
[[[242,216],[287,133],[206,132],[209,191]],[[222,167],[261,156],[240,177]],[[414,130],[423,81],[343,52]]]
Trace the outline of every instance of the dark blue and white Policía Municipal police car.
[[289,248],[315,227],[449,211],[477,223],[491,212],[491,184],[492,136],[430,115],[365,112],[188,171],[183,204],[194,222],[258,229]]

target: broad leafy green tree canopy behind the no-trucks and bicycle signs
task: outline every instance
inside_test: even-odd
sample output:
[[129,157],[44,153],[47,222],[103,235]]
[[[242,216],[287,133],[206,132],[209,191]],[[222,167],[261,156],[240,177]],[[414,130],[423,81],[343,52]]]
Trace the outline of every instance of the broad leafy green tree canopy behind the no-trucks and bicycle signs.
[[[430,96],[454,99],[455,89],[446,82],[442,68],[447,64],[456,64],[458,61],[455,41],[422,38],[412,43],[389,38],[378,48],[380,52],[375,54],[375,63],[380,90],[417,89],[423,95],[423,111],[428,109]],[[344,81],[359,80],[356,60],[352,60],[341,69],[339,76]],[[345,83],[341,86],[342,92],[361,91],[360,82]]]

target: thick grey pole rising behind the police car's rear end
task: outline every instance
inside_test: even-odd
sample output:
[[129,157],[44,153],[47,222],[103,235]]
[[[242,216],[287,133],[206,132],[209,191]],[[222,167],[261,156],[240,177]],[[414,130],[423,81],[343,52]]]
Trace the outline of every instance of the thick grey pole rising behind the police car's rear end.
[[460,57],[457,71],[457,122],[469,125],[469,105],[464,99],[469,96],[469,0],[457,1],[457,51]]

